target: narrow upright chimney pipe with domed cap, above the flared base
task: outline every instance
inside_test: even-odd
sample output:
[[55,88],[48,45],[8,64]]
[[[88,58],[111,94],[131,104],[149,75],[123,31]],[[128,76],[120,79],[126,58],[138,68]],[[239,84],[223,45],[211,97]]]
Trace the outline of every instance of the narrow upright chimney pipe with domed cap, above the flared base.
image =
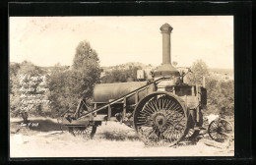
[[162,34],[162,64],[170,64],[170,32],[173,28],[168,24],[160,27]]

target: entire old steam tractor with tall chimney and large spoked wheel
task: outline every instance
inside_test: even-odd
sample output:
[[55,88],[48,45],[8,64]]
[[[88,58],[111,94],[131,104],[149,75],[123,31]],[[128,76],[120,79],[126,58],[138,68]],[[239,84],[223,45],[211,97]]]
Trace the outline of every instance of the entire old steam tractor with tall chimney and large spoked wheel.
[[[93,138],[102,121],[113,118],[133,127],[144,142],[175,144],[184,137],[198,135],[207,104],[207,90],[201,85],[183,83],[170,62],[170,32],[164,24],[162,64],[152,80],[131,83],[100,83],[93,102],[81,99],[75,113],[66,113],[62,124],[75,136]],[[204,83],[203,83],[204,84]]]

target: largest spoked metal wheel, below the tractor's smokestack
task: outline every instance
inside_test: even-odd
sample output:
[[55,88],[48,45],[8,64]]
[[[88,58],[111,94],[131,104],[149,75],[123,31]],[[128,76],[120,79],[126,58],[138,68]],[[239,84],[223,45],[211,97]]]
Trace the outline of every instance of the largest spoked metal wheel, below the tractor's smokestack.
[[173,145],[187,133],[187,115],[181,102],[167,92],[143,98],[135,108],[134,128],[146,144]]

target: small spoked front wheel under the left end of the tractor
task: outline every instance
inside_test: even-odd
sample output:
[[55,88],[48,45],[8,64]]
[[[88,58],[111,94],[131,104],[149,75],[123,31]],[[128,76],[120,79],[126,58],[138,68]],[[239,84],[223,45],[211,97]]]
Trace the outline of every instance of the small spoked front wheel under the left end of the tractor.
[[96,134],[96,126],[69,127],[69,132],[75,137],[90,139]]

